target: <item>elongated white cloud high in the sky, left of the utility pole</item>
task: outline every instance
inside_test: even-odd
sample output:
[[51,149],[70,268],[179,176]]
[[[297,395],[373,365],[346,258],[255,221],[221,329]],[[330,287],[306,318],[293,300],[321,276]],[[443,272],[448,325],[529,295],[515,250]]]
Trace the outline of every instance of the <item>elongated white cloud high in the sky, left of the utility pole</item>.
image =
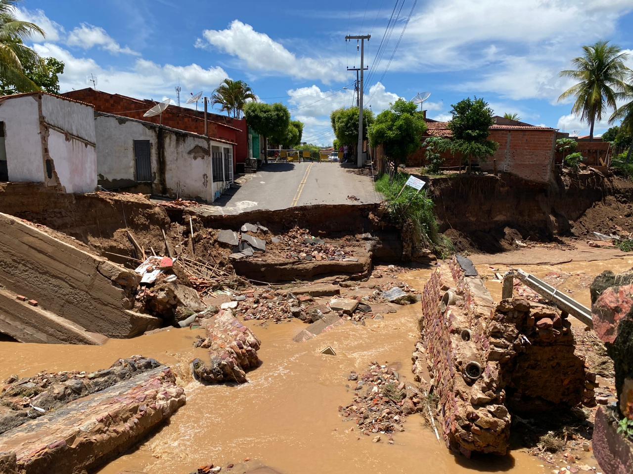
[[285,75],[299,80],[318,79],[329,84],[344,78],[344,62],[337,58],[299,57],[251,25],[234,20],[225,30],[204,30],[196,47],[215,47],[238,58],[251,71]]

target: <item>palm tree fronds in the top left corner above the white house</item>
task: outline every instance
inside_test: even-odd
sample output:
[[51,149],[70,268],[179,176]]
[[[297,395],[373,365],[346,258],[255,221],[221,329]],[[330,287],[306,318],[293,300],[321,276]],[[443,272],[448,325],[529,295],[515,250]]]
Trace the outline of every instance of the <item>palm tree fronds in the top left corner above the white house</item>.
[[24,74],[22,61],[39,64],[44,70],[46,64],[22,42],[36,33],[44,36],[44,31],[34,23],[16,18],[18,1],[0,0],[0,81],[15,85],[19,92],[33,92],[40,88]]

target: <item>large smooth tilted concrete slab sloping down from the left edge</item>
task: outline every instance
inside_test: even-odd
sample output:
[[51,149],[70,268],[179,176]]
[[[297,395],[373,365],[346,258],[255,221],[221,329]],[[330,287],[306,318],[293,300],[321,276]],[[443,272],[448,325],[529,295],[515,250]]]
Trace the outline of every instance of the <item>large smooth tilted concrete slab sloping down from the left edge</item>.
[[128,312],[141,280],[133,270],[6,214],[0,214],[0,247],[0,281],[9,291],[89,332],[132,337],[148,329]]

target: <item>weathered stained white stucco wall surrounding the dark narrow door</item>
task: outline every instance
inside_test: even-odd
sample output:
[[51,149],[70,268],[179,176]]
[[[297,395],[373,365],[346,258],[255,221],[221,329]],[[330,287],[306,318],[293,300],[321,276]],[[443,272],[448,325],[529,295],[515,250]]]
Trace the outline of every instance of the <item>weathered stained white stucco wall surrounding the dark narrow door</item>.
[[213,183],[209,147],[230,145],[117,116],[97,116],[94,123],[97,174],[106,188],[137,184],[134,140],[150,142],[153,193],[213,202],[215,191],[226,187],[224,181]]

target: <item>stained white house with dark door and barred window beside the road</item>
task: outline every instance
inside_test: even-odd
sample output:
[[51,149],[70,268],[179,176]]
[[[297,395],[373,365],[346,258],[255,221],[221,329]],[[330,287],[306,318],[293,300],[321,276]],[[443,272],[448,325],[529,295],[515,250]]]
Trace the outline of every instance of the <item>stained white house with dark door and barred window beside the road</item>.
[[99,186],[213,202],[230,186],[234,143],[96,112]]

